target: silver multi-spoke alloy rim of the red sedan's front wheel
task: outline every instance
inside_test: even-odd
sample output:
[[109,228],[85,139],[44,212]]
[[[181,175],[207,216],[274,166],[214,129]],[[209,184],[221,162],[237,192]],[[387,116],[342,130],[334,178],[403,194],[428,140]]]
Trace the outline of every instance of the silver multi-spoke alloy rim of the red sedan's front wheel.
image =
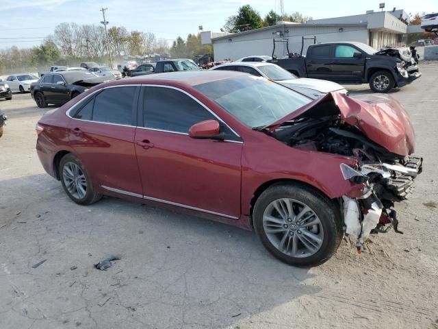
[[315,254],[324,241],[318,215],[296,199],[276,199],[268,204],[263,212],[263,230],[279,252],[296,258]]

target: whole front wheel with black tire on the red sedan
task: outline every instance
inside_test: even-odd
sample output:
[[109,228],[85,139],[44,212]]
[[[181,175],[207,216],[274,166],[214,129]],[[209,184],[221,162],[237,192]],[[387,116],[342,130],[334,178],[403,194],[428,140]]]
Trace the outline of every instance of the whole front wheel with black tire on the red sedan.
[[276,184],[254,207],[254,228],[268,252],[295,266],[317,266],[336,252],[343,236],[339,210],[302,184]]

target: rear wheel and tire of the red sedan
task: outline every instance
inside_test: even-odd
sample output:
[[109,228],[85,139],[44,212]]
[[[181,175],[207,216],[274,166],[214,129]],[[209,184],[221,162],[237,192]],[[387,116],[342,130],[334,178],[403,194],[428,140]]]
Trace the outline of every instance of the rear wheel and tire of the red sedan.
[[94,204],[101,199],[102,195],[94,189],[88,171],[73,154],[66,154],[61,159],[59,173],[65,193],[77,204]]

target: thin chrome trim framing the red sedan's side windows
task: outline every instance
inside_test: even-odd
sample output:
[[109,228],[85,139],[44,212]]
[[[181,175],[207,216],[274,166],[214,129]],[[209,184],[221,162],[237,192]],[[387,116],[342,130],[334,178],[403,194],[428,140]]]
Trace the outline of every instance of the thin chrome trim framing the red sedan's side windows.
[[[100,88],[98,90],[94,90],[92,93],[90,93],[89,95],[87,95],[86,97],[83,97],[83,99],[81,99],[80,101],[78,101],[77,103],[75,103],[75,105],[73,105],[71,108],[69,108],[66,111],[66,116],[69,117],[72,120],[79,120],[79,121],[88,121],[88,122],[96,122],[96,123],[105,123],[108,125],[120,125],[118,123],[108,123],[108,122],[100,122],[100,121],[92,121],[92,120],[82,120],[82,119],[76,119],[73,118],[70,115],[70,112],[72,110],[74,110],[75,108],[77,108],[78,106],[81,106],[82,103],[88,101],[88,99],[90,99],[90,97],[92,97],[92,95],[101,92],[102,90],[105,89],[109,89],[109,88],[118,88],[118,87],[127,87],[127,86],[146,86],[146,87],[162,87],[162,88],[169,88],[169,89],[175,89],[175,90],[179,90],[182,93],[184,93],[185,95],[188,95],[189,97],[191,97],[192,99],[194,99],[194,101],[196,101],[197,103],[199,103],[201,106],[203,106],[203,108],[205,108],[205,110],[207,110],[208,112],[210,112],[211,114],[213,114],[214,117],[216,117],[216,119],[218,119],[220,122],[224,123],[224,125],[227,125],[227,127],[229,127],[229,130],[231,130],[231,132],[233,132],[233,134],[235,134],[235,136],[242,138],[239,134],[237,134],[237,132],[235,132],[235,130],[233,130],[233,128],[231,128],[226,122],[224,122],[222,119],[220,119],[220,117],[218,117],[218,115],[216,113],[214,113],[213,111],[211,111],[207,106],[205,106],[204,103],[202,103],[201,101],[199,101],[198,99],[196,99],[195,97],[193,97],[192,95],[190,95],[190,93],[186,92],[185,90],[182,90],[180,88],[174,87],[174,86],[164,86],[164,85],[159,85],[159,84],[120,84],[120,85],[116,85],[116,86],[106,86],[104,88]],[[172,134],[187,134],[184,132],[172,132],[170,130],[159,130],[159,129],[154,129],[154,128],[148,128],[148,127],[141,127],[139,125],[137,126],[133,126],[133,125],[122,125],[125,127],[137,127],[137,128],[141,128],[141,129],[146,129],[146,130],[155,130],[157,132],[169,132]],[[188,135],[188,134],[187,134]],[[226,141],[230,141],[230,140],[226,140]],[[242,141],[230,141],[230,142],[235,142],[235,143],[243,143]]]

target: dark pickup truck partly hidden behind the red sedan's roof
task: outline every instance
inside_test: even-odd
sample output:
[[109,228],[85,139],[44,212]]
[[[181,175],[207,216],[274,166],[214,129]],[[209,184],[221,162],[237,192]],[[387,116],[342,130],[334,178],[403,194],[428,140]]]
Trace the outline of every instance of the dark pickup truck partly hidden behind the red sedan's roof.
[[199,66],[193,60],[187,58],[176,58],[171,60],[159,60],[156,63],[142,64],[132,71],[128,71],[127,75],[136,77],[138,75],[146,75],[152,73],[165,73],[175,71],[199,70]]

